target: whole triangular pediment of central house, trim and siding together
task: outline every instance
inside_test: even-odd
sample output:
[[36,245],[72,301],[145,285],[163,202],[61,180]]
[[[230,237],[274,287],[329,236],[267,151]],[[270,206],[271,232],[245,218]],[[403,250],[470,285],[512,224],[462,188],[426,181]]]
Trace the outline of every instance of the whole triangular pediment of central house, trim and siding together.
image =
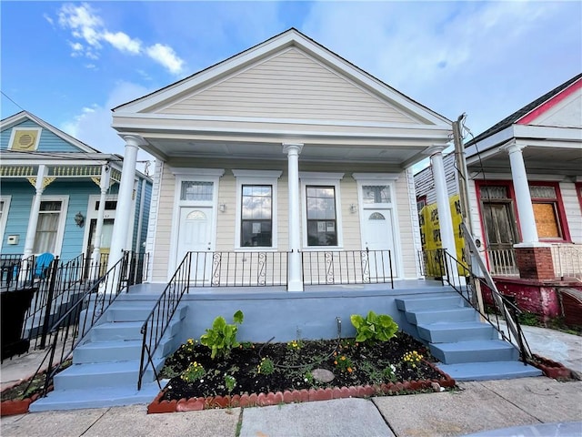
[[114,119],[130,114],[450,124],[296,29],[114,108]]

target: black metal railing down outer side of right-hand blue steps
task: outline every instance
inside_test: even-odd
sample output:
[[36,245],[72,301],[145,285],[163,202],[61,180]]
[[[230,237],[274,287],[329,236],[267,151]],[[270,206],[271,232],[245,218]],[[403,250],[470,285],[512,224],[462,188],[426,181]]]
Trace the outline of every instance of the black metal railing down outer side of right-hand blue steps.
[[[467,232],[465,235],[470,234]],[[519,323],[521,310],[497,290],[493,279],[485,268],[485,264],[478,255],[475,258],[479,264],[480,275],[469,269],[466,263],[455,259],[446,250],[441,250],[443,268],[445,269],[443,282],[456,290],[468,304],[477,310],[484,320],[487,320],[499,332],[504,340],[511,343],[519,351],[520,360],[527,364],[527,361],[531,358],[531,351]],[[477,248],[475,248],[474,253],[478,253]],[[487,290],[491,293],[494,305],[493,311],[484,309],[481,301],[482,286],[487,286]]]

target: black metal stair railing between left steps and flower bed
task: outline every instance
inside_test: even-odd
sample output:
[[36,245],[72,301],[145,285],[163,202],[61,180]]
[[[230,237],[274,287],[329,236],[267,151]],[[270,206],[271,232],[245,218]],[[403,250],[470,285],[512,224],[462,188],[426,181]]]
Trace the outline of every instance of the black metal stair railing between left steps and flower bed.
[[[186,253],[184,259],[182,259],[182,262],[180,262],[180,265],[176,269],[174,276],[172,276],[172,279],[166,285],[166,289],[162,292],[154,308],[150,311],[146,321],[142,325],[141,333],[143,340],[142,353],[139,361],[137,390],[141,390],[142,388],[142,379],[149,364],[152,365],[157,385],[162,390],[156,372],[156,365],[154,364],[154,354],[170,325],[170,320],[174,317],[180,300],[182,300],[184,293],[190,287],[190,265],[193,253]],[[146,363],[144,362],[145,358],[147,358]]]

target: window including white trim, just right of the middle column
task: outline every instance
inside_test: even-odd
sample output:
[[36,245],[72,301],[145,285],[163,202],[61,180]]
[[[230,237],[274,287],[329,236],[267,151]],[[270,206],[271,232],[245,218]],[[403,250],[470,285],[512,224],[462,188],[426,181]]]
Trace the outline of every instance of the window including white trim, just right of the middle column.
[[302,172],[299,177],[305,223],[304,247],[342,247],[339,181],[343,173]]

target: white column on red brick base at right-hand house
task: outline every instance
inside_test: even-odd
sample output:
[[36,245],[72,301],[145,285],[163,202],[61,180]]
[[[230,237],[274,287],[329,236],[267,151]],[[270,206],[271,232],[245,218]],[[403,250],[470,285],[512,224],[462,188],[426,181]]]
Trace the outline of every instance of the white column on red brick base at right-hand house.
[[517,214],[519,215],[519,225],[521,228],[521,244],[531,246],[537,245],[536,218],[534,207],[529,194],[529,184],[527,183],[526,164],[521,149],[524,146],[509,144],[502,147],[509,154],[509,164],[511,165],[511,178],[513,188],[516,193]]

